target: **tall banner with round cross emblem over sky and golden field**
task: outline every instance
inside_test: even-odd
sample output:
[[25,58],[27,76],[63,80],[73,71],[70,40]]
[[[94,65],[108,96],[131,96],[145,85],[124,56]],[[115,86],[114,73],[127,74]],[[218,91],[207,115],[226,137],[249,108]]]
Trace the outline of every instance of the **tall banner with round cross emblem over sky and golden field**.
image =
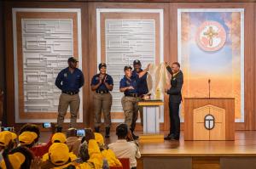
[[244,122],[244,9],[179,8],[177,20],[183,97],[208,98],[210,82],[211,97],[235,98]]

